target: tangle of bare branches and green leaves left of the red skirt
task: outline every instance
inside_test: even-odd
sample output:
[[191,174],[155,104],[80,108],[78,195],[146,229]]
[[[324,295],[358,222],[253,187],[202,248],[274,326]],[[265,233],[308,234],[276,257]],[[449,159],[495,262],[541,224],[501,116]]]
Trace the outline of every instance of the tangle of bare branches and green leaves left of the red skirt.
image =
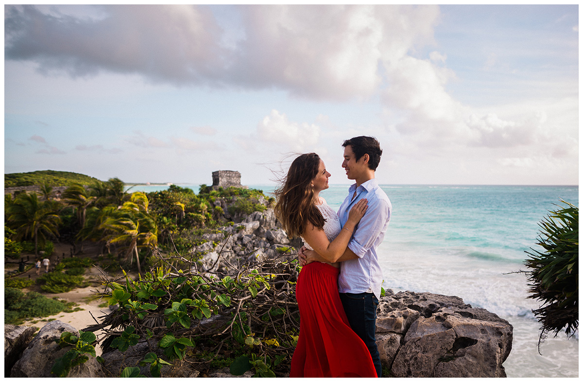
[[106,333],[104,353],[147,342],[163,350],[159,363],[186,361],[201,371],[229,367],[234,375],[253,370],[257,377],[289,371],[300,325],[297,261],[266,259],[230,276],[160,261],[139,280],[103,280],[111,290],[103,296],[120,308],[86,330]]

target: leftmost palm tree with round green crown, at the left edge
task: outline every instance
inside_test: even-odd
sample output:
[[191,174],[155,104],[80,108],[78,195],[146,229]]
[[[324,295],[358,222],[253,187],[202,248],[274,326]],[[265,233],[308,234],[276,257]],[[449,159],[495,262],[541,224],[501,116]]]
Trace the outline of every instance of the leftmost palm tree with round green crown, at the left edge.
[[39,240],[44,243],[47,236],[58,236],[61,218],[55,205],[51,201],[39,201],[36,192],[19,194],[9,203],[6,213],[9,226],[16,230],[16,240],[34,240],[34,255],[38,255]]

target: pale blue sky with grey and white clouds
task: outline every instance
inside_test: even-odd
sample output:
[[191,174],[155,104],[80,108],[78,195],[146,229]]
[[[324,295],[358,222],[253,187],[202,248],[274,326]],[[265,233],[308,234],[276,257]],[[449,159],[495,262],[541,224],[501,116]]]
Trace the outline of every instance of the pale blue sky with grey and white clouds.
[[5,5],[5,173],[578,184],[578,6]]

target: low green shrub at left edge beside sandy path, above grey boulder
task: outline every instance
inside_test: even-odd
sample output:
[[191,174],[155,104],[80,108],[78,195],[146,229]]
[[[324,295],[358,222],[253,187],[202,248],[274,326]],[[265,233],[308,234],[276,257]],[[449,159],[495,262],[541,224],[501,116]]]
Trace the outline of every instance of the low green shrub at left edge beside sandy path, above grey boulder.
[[47,298],[34,291],[24,294],[8,287],[4,290],[4,323],[20,325],[26,319],[43,318],[70,311],[73,303]]

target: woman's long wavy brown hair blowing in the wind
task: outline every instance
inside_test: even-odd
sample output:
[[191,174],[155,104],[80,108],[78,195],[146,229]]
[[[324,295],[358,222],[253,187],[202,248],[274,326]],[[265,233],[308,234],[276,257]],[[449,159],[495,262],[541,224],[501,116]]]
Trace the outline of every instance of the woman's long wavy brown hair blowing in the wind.
[[299,237],[308,222],[324,228],[324,217],[314,205],[314,188],[310,185],[319,165],[318,154],[301,154],[293,160],[282,186],[274,192],[277,202],[273,210],[290,238]]

